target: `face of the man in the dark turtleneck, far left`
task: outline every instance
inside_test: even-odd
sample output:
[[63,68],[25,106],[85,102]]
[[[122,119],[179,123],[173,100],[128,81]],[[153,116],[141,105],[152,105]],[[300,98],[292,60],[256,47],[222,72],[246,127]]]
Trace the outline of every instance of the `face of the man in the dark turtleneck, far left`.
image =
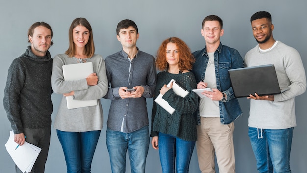
[[45,56],[51,45],[51,31],[44,26],[38,26],[34,29],[33,35],[29,35],[29,41],[35,55]]

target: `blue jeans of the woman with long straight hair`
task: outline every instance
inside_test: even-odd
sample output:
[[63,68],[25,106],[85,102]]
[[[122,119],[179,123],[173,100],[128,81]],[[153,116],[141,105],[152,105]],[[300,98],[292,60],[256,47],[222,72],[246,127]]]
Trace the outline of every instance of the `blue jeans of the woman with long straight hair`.
[[63,148],[67,173],[90,173],[101,131],[56,132]]

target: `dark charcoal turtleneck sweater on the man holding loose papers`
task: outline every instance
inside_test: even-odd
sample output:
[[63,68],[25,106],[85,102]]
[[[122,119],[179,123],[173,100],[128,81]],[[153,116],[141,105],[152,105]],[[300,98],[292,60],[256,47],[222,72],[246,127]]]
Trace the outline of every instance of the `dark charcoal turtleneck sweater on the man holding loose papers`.
[[33,54],[31,46],[8,69],[3,105],[14,134],[23,128],[51,126],[52,58]]

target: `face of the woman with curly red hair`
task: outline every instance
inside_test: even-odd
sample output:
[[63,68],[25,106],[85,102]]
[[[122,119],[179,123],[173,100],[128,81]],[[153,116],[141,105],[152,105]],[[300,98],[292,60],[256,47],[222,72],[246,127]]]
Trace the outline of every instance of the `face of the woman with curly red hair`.
[[167,43],[166,45],[166,61],[169,66],[178,66],[179,50],[175,43]]

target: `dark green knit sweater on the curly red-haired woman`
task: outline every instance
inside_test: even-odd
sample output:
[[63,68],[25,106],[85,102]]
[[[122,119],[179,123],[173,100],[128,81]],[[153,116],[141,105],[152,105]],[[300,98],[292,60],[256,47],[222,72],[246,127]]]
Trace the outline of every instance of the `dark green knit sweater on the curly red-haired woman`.
[[153,102],[151,136],[158,136],[158,132],[161,132],[186,141],[196,141],[197,118],[193,112],[198,106],[198,95],[192,91],[197,86],[193,73],[171,74],[166,71],[158,73],[154,99],[159,95],[163,85],[168,84],[171,79],[174,79],[190,93],[182,98],[176,95],[173,89],[170,89],[163,95],[163,99],[175,109],[172,115]]

